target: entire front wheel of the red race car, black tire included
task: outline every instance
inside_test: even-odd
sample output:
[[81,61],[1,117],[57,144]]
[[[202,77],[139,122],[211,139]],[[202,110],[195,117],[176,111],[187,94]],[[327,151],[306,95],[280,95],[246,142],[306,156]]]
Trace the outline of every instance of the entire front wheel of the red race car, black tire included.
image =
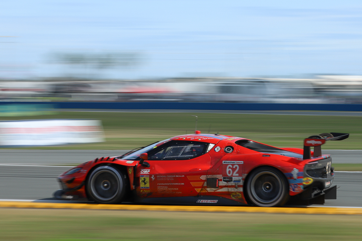
[[87,194],[96,203],[121,203],[126,192],[124,176],[114,167],[99,166],[90,173],[87,179]]

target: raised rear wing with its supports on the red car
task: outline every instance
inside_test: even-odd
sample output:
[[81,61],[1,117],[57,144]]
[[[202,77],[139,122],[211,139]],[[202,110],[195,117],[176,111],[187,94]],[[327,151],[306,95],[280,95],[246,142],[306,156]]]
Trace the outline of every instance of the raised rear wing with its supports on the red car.
[[313,157],[320,157],[322,155],[322,148],[326,141],[341,141],[349,137],[348,133],[322,133],[318,136],[310,136],[304,139],[303,159],[311,159],[311,146],[314,146]]

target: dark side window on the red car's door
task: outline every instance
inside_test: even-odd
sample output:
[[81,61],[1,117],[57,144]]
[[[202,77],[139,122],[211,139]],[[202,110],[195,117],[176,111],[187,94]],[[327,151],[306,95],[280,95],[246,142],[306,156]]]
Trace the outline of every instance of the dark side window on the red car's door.
[[209,143],[198,141],[176,141],[148,155],[149,160],[188,160],[206,153]]

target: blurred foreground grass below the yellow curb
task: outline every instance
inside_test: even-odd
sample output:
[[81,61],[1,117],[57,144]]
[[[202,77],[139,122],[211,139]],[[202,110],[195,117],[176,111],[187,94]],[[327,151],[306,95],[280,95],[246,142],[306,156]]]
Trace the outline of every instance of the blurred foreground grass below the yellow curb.
[[358,215],[0,209],[2,241],[361,240]]

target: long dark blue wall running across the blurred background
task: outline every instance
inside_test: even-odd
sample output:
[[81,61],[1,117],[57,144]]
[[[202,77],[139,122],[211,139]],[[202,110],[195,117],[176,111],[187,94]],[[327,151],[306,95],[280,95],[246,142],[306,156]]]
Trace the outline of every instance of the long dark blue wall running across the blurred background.
[[[1,102],[41,104],[39,102]],[[273,104],[273,103],[190,103],[190,102],[43,102],[56,109],[190,109],[224,111],[362,111],[362,104]]]

